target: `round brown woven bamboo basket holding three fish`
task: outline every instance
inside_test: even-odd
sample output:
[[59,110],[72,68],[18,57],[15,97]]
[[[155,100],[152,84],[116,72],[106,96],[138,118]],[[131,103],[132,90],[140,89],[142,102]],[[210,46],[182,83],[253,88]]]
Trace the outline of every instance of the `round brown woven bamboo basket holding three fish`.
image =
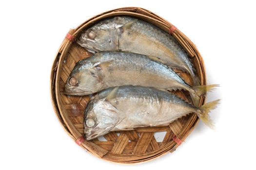
[[[76,43],[76,38],[94,23],[115,16],[132,16],[145,20],[159,27],[174,36],[183,49],[191,57],[191,60],[197,70],[201,85],[206,85],[206,75],[204,63],[196,46],[176,27],[156,14],[138,7],[127,7],[111,10],[98,16],[92,17],[71,29],[59,47],[51,71],[51,98],[55,113],[59,122],[69,136],[87,152],[98,156],[106,161],[116,163],[139,163],[157,158],[166,153],[172,153],[192,132],[198,123],[196,114],[189,114],[186,117],[178,119],[169,126],[138,128],[133,131],[110,132],[104,136],[107,141],[100,141],[98,138],[85,141],[82,136],[83,129],[83,111],[89,96],[67,96],[62,94],[65,82],[74,68],[75,64],[92,53],[86,51]],[[189,84],[191,78],[186,73],[175,70]],[[189,94],[186,91],[175,91],[175,94],[191,102]],[[205,102],[205,97],[201,97],[200,105]],[[156,132],[166,132],[161,142],[158,142],[154,136]]]

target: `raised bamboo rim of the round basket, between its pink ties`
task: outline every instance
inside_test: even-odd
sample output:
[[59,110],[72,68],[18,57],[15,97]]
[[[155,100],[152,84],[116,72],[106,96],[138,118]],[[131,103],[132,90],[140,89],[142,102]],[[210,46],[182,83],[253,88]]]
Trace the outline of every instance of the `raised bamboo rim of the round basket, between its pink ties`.
[[[118,8],[118,9],[114,9],[114,10],[110,10],[107,12],[104,12],[102,14],[99,14],[98,16],[92,17],[88,20],[86,20],[85,22],[83,22],[82,24],[80,24],[76,29],[71,30],[70,34],[72,34],[74,37],[77,37],[82,30],[84,30],[86,27],[89,27],[91,24],[106,18],[106,17],[114,17],[114,16],[133,16],[133,17],[137,17],[142,19],[142,17],[145,17],[147,19],[152,19],[153,22],[158,23],[158,24],[162,24],[164,25],[163,28],[160,28],[166,32],[168,32],[169,27],[172,26],[171,23],[169,23],[168,21],[166,21],[165,19],[158,17],[157,15],[155,15],[154,13],[150,12],[152,15],[154,15],[155,17],[158,17],[161,19],[161,21],[156,21],[157,19],[154,19],[152,17],[148,17],[148,16],[144,16],[142,14],[138,14],[138,13],[134,13],[134,12],[130,12],[130,11],[121,11],[120,10],[127,10],[127,9],[133,9],[133,10],[144,10],[147,12],[150,12],[148,10],[145,10],[143,8],[139,8],[139,7],[125,7],[125,8]],[[144,20],[144,19],[143,19]],[[155,25],[155,24],[154,24]],[[179,30],[177,30],[177,33],[179,33]],[[180,32],[181,33],[181,32]],[[181,33],[181,35],[184,35]],[[205,85],[206,84],[206,76],[205,76],[205,67],[204,67],[204,63],[202,60],[201,55],[199,54],[199,52],[197,51],[196,46],[184,35],[184,39],[187,40],[190,45],[192,46],[193,50],[196,53],[196,57],[198,59],[198,63],[200,64],[200,69],[201,69],[201,84]],[[57,115],[57,118],[59,119],[60,124],[62,125],[62,127],[64,128],[64,130],[67,132],[67,134],[69,136],[71,136],[74,140],[76,140],[77,138],[79,138],[81,136],[81,134],[77,131],[77,129],[75,128],[75,126],[73,125],[73,123],[71,121],[69,121],[67,118],[67,116],[65,115],[65,111],[63,111],[63,106],[62,106],[62,102],[60,99],[60,92],[59,92],[59,78],[60,78],[60,72],[61,72],[61,68],[62,68],[62,63],[63,63],[63,59],[64,59],[64,54],[69,51],[69,48],[71,47],[72,42],[71,41],[67,41],[66,39],[64,39],[64,41],[62,42],[62,44],[59,47],[59,50],[56,54],[55,60],[53,62],[52,65],[52,71],[51,71],[51,79],[50,79],[50,90],[51,90],[51,99],[52,99],[52,103],[53,103],[53,107],[55,110],[55,113]],[[199,68],[198,68],[199,69]],[[205,102],[205,97],[201,98],[201,104]],[[183,128],[182,132],[180,132],[180,134],[183,134],[183,136],[181,136],[181,139],[184,140],[196,127],[197,123],[198,123],[199,119],[198,117],[194,114],[194,116],[191,117],[190,120],[188,120],[188,122],[192,122],[192,124],[189,125],[189,128]],[[73,127],[72,127],[73,126]],[[172,146],[172,147],[171,147]],[[139,162],[145,162],[145,161],[149,161],[152,159],[157,158],[160,155],[164,155],[166,153],[168,153],[169,151],[173,152],[176,148],[177,148],[177,144],[175,144],[174,142],[170,142],[169,144],[165,145],[163,148],[159,149],[158,152],[153,152],[153,153],[145,153],[143,154],[145,158],[142,158],[141,156],[138,156],[138,159],[134,159],[134,160],[138,160],[137,162],[135,161],[131,161],[131,162],[125,162],[127,163],[139,163]],[[115,162],[115,163],[124,163],[122,161],[117,161],[115,159],[110,159],[108,157],[106,157],[106,154],[109,154],[111,156],[116,156],[116,157],[120,157],[123,156],[122,154],[115,154],[112,155],[112,153],[104,153],[104,151],[100,151],[99,153],[95,153],[90,147],[95,147],[92,142],[90,141],[85,141],[82,143],[81,145],[82,148],[84,148],[85,150],[89,151],[90,153],[103,158],[104,160],[110,161],[110,162]],[[136,157],[137,155],[133,155],[134,157]]]

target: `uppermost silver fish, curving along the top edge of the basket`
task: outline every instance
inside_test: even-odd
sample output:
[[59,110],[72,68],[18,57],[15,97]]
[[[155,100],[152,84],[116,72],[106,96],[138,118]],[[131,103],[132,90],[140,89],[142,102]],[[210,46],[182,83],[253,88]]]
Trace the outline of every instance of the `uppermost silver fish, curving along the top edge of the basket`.
[[102,20],[82,33],[77,43],[90,52],[128,51],[144,54],[171,68],[189,73],[194,85],[199,78],[177,40],[158,27],[135,17]]

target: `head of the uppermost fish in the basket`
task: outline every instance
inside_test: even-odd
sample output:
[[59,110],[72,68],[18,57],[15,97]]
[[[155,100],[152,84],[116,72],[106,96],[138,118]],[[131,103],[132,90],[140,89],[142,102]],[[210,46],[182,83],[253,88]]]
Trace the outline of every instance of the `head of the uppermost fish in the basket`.
[[79,36],[77,43],[87,51],[118,50],[118,35],[113,20],[101,21]]

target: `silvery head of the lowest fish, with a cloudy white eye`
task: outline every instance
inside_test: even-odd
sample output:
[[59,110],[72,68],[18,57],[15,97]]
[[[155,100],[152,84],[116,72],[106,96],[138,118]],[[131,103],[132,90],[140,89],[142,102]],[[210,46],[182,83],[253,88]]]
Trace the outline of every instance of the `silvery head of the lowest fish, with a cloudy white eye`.
[[109,133],[119,123],[120,114],[116,107],[104,100],[90,101],[85,109],[84,137],[91,140]]

